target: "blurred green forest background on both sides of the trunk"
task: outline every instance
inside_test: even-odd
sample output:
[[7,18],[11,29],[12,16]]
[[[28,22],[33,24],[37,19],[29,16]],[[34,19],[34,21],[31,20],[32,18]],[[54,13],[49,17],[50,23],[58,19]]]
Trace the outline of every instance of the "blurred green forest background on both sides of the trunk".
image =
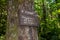
[[[40,18],[39,40],[60,40],[60,0],[34,0]],[[0,40],[5,40],[7,0],[0,0]]]

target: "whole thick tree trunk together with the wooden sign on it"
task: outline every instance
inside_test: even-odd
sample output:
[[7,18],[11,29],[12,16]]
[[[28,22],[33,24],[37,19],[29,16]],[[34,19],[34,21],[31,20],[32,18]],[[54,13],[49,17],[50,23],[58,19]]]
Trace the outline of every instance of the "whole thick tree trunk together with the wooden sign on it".
[[6,40],[38,40],[37,14],[34,0],[8,1],[8,26]]

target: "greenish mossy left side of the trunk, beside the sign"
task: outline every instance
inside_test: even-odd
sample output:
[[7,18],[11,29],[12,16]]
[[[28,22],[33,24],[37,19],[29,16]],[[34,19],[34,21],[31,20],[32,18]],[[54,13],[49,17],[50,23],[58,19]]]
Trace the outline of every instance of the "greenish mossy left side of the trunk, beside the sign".
[[7,16],[7,32],[6,40],[18,40],[17,27],[18,27],[18,5],[17,0],[8,0],[8,16]]

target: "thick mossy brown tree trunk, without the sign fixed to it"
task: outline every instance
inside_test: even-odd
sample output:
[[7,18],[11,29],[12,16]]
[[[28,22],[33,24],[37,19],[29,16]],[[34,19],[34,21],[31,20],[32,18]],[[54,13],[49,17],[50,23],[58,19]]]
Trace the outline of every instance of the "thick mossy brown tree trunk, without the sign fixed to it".
[[33,0],[8,0],[6,40],[38,40],[36,26],[21,25],[18,12],[22,10],[34,13]]

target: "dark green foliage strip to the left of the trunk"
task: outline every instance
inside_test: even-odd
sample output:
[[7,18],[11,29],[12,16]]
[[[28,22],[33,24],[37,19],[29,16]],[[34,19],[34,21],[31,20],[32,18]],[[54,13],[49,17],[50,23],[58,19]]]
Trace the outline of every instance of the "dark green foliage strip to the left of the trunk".
[[6,32],[7,12],[6,0],[0,0],[0,40],[4,40]]

